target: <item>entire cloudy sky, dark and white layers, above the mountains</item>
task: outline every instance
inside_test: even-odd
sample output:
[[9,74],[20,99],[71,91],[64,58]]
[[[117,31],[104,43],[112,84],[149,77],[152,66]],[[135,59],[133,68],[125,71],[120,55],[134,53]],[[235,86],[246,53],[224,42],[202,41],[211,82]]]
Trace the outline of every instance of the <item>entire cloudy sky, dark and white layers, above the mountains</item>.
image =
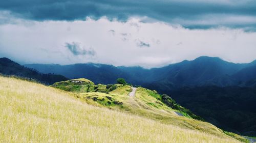
[[0,57],[20,64],[161,67],[198,56],[256,60],[256,1],[9,0]]

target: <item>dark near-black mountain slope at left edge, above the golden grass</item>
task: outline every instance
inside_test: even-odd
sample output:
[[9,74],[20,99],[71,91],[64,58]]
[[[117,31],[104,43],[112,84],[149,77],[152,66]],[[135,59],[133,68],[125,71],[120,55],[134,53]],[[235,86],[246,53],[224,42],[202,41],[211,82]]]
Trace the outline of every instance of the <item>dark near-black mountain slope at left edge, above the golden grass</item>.
[[20,77],[32,78],[46,84],[67,80],[62,75],[42,74],[33,69],[21,66],[7,58],[0,58],[0,73],[4,75],[16,75]]

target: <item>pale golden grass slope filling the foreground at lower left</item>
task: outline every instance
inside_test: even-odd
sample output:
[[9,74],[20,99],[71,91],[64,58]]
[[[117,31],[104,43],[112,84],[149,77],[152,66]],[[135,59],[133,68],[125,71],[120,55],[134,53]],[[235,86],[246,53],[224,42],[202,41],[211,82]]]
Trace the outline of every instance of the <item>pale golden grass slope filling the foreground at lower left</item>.
[[0,81],[0,142],[238,142],[88,105],[41,84]]

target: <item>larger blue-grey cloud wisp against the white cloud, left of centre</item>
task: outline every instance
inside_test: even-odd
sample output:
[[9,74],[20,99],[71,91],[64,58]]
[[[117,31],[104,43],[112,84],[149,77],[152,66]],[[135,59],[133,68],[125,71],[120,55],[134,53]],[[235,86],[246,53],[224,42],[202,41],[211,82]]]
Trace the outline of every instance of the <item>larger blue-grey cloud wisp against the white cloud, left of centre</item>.
[[93,49],[82,49],[79,45],[79,43],[72,42],[72,43],[66,43],[65,47],[67,47],[74,55],[95,55],[95,51]]

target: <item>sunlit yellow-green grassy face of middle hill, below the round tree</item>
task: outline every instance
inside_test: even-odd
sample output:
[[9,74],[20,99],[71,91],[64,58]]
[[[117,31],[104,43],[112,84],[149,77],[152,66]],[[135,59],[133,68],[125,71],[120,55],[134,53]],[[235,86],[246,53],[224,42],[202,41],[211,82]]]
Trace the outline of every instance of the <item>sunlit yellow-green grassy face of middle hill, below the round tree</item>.
[[[129,85],[125,85],[124,87],[117,88],[108,94],[98,92],[70,94],[73,94],[75,97],[80,98],[82,101],[86,101],[89,104],[107,106],[111,109],[133,113],[164,124],[180,126],[185,129],[199,130],[217,136],[226,136],[220,129],[212,124],[177,116],[174,112],[177,110],[174,110],[166,106],[160,100],[157,100],[157,98],[160,98],[159,94],[152,96],[150,94],[152,93],[151,90],[138,88],[135,97],[127,96],[130,92],[131,87]],[[106,97],[111,97],[111,100]],[[118,101],[118,103],[121,102],[122,104],[114,104],[114,101]],[[111,104],[108,104],[107,102]]]

